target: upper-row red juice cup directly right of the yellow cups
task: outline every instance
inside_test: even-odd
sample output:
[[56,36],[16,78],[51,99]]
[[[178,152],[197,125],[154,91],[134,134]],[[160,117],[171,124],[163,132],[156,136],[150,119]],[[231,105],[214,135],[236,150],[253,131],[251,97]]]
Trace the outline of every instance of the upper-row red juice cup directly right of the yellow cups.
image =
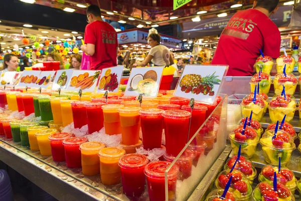
[[85,104],[87,101],[76,101],[71,103],[74,128],[81,128],[87,125],[87,111]]

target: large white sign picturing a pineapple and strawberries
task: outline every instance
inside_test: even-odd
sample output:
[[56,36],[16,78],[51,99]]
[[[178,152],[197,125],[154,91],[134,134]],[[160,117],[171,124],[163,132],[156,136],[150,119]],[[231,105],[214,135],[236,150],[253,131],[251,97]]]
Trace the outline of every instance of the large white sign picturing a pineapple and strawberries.
[[213,104],[228,66],[186,65],[174,95]]

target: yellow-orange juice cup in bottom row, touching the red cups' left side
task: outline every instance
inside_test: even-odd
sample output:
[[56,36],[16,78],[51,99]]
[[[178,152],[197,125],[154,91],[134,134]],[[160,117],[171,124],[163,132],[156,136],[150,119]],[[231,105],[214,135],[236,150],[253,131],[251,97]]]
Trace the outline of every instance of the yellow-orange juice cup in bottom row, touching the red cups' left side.
[[51,156],[51,146],[48,137],[57,132],[56,129],[44,129],[35,134],[42,156]]

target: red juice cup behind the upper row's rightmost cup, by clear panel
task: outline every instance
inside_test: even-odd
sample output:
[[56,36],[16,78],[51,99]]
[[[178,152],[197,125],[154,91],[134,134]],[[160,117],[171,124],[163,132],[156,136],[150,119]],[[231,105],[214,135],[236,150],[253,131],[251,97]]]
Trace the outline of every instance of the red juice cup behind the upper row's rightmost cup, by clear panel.
[[187,106],[182,106],[182,110],[192,112],[190,132],[189,132],[189,140],[190,140],[205,122],[206,111],[208,109],[205,106],[194,106],[193,110],[191,111],[191,107],[187,105]]

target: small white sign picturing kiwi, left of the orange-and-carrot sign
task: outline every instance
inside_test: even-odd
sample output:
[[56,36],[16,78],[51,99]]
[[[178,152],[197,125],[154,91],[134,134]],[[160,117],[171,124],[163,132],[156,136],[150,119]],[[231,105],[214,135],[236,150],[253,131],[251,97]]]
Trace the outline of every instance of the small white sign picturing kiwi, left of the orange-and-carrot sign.
[[52,90],[66,89],[73,73],[73,69],[58,70],[52,84]]

